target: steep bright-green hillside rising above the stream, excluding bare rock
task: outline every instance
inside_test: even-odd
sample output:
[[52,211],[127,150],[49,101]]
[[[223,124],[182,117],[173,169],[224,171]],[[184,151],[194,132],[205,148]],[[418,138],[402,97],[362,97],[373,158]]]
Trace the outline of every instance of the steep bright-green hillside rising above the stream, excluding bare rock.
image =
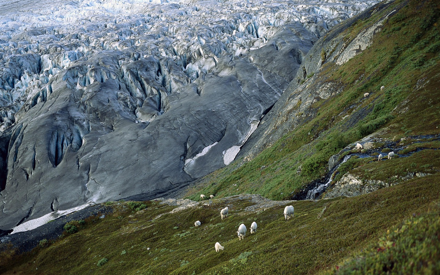
[[[366,136],[373,134],[374,139],[400,141],[408,136],[438,134],[440,3],[396,1],[367,20],[358,20],[341,35],[346,40],[356,37],[402,3],[406,4],[385,20],[370,47],[341,66],[327,60],[319,72],[297,89],[301,91],[305,85],[313,85],[313,81],[342,87],[337,95],[313,104],[310,112],[315,117],[304,119],[303,125],[292,129],[251,161],[237,160],[206,176],[188,190],[187,198],[241,193],[261,194],[271,199],[291,198],[292,192],[326,175],[327,161],[333,154]],[[324,56],[330,56],[332,51],[326,48]],[[382,85],[386,87],[383,91]],[[370,96],[364,98],[365,92]],[[295,110],[286,112],[302,115]],[[438,143],[429,147],[440,148]],[[412,162],[416,161],[407,161],[410,165]],[[374,169],[382,167],[377,165]],[[388,177],[395,176],[394,171],[388,172]]]

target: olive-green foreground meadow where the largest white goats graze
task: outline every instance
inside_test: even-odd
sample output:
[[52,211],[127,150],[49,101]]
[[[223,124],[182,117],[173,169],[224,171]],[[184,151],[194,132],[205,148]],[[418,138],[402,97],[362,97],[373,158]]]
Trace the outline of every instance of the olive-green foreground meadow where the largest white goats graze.
[[[412,257],[415,252],[411,242],[407,246],[408,238],[423,240],[420,234],[440,232],[440,176],[428,179],[353,198],[280,202],[269,208],[267,202],[264,205],[246,195],[205,200],[176,213],[169,213],[176,206],[154,201],[144,202],[147,208],[139,211],[130,202],[109,202],[113,214],[86,219],[83,225],[77,224],[76,233],[40,242],[21,256],[3,253],[0,270],[5,274],[311,274],[330,272],[365,247],[371,248],[356,256],[354,264],[348,261],[346,265],[348,269],[362,266],[359,259],[369,264],[379,257],[374,253],[377,243],[384,247],[377,252],[381,255],[392,253],[387,249],[403,249]],[[225,205],[230,213],[221,220],[220,209]],[[282,215],[284,205],[295,207],[290,220]],[[409,228],[403,223],[409,218],[410,224],[422,220],[429,231],[424,233],[422,223]],[[194,227],[196,220],[202,222],[200,227]],[[238,240],[238,225],[249,227],[253,221],[258,224],[257,232],[251,235],[248,230]],[[409,229],[402,229],[402,223]],[[389,233],[395,228],[400,228],[399,234]],[[419,253],[427,244],[438,248],[437,237],[415,247]],[[224,250],[217,253],[215,242]],[[427,258],[414,256],[411,271],[440,272],[438,264],[430,264],[440,260],[438,249],[432,251],[421,254]],[[380,257],[387,259],[378,262],[384,267],[395,262],[393,271],[402,271],[402,263],[408,261]]]

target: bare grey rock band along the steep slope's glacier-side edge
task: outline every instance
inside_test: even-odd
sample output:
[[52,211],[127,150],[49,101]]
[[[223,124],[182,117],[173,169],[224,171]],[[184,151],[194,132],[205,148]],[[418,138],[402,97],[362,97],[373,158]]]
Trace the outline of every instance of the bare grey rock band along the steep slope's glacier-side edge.
[[[326,69],[326,63],[343,64],[355,55],[362,52],[371,43],[375,34],[381,31],[381,24],[387,18],[395,14],[404,6],[401,4],[392,13],[385,15],[381,20],[367,27],[356,37],[342,37],[345,29],[352,26],[356,20],[369,18],[374,13],[386,9],[392,5],[392,1],[383,1],[374,7],[359,14],[356,18],[349,18],[341,24],[335,26],[323,37],[316,41],[313,47],[304,56],[301,68],[297,71],[294,81],[291,81],[286,91],[272,108],[270,114],[260,121],[260,126],[249,141],[243,146],[239,157],[250,160],[264,148],[270,147],[276,140],[289,131],[311,120],[318,113],[312,104],[321,100],[328,99],[344,90],[341,83],[328,81],[325,74],[320,74]],[[354,125],[356,120],[364,117],[367,110],[353,110],[359,112],[356,116],[351,116],[347,127]],[[344,119],[340,114],[336,119]],[[309,133],[310,139],[316,139],[319,132]]]

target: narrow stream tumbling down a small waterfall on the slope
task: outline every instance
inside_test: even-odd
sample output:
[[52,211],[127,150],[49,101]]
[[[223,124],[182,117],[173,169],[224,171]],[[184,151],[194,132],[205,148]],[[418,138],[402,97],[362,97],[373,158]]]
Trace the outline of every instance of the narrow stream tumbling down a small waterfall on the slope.
[[[434,140],[440,140],[440,135],[410,136],[410,138],[412,138],[412,139],[435,138]],[[372,140],[366,140],[366,141],[362,142],[361,144],[371,142],[371,141]],[[414,143],[422,143],[422,141],[416,141]],[[413,144],[413,143],[411,143],[411,144]],[[409,146],[411,144],[408,144],[407,146]],[[331,169],[327,173],[327,175],[324,179],[315,180],[312,183],[308,184],[308,186],[305,189],[303,189],[300,192],[298,192],[297,194],[295,194],[291,199],[293,199],[293,200],[314,200],[314,199],[319,198],[319,196],[321,194],[323,194],[324,191],[326,191],[327,187],[330,185],[330,183],[334,179],[334,176],[337,174],[335,171],[339,168],[339,166],[341,166],[342,163],[348,161],[352,156],[358,156],[359,158],[373,158],[373,157],[378,158],[377,155],[373,155],[374,153],[378,153],[378,154],[383,155],[382,161],[386,161],[387,160],[387,153],[382,153],[382,149],[389,148],[394,153],[396,153],[396,152],[399,152],[400,150],[403,150],[407,147],[407,146],[396,146],[396,145],[397,145],[397,142],[386,141],[384,146],[370,149],[366,153],[359,152],[359,153],[352,153],[352,154],[346,155],[342,159],[342,161],[340,161],[337,165],[334,166],[333,169]],[[412,152],[409,152],[408,154],[399,154],[399,157],[406,158],[406,157],[411,156],[415,152],[425,150],[425,149],[429,149],[429,148],[420,147]],[[350,150],[352,150],[352,148],[345,148],[345,149],[341,150],[341,152],[339,152],[339,154],[344,154],[346,151],[350,151]],[[293,194],[293,192],[291,194]]]

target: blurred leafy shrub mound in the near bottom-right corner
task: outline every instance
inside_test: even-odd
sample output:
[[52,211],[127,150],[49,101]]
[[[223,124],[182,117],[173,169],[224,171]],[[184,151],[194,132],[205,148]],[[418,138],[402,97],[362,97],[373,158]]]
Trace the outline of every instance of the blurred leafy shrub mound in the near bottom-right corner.
[[326,274],[439,274],[440,205],[414,213],[387,230],[378,242],[336,265]]

